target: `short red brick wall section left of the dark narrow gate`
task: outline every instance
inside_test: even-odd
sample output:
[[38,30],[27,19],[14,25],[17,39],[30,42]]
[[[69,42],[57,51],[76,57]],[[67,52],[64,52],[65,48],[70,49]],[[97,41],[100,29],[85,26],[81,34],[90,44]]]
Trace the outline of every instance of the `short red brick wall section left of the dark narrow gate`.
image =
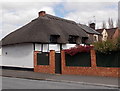
[[51,50],[49,53],[49,65],[37,65],[37,53],[38,51],[34,52],[34,72],[55,74],[55,51]]

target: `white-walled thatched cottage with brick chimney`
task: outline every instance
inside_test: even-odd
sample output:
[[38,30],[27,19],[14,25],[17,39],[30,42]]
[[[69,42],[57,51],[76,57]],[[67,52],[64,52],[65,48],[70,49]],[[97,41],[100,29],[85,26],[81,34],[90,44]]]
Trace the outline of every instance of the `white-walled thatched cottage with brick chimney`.
[[41,11],[38,18],[2,39],[2,66],[34,68],[35,51],[60,53],[86,40],[87,33],[74,21]]

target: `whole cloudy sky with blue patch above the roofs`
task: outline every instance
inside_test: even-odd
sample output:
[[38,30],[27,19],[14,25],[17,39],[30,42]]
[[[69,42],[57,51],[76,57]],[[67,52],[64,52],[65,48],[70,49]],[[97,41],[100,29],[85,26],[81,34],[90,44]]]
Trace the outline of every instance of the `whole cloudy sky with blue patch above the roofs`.
[[[41,10],[61,18],[88,25],[118,19],[118,0],[1,0],[0,39],[38,17]],[[109,2],[107,2],[109,1]]]

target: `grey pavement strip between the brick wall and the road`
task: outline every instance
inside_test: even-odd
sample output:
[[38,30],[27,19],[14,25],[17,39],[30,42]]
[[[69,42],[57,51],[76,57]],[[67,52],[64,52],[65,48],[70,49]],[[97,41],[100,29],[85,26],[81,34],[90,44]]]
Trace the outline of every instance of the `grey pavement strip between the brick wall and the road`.
[[46,81],[54,81],[54,82],[80,83],[84,85],[120,88],[119,86],[120,78],[114,78],[114,77],[45,74],[45,73],[38,73],[33,71],[22,71],[22,70],[11,70],[11,69],[2,69],[0,76],[32,79],[32,80],[46,80]]

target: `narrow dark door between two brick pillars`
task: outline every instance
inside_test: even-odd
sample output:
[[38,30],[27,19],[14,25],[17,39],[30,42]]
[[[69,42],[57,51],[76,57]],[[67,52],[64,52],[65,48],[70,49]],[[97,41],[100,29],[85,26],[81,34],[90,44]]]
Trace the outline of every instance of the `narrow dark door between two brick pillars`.
[[55,54],[55,73],[61,74],[61,54]]

